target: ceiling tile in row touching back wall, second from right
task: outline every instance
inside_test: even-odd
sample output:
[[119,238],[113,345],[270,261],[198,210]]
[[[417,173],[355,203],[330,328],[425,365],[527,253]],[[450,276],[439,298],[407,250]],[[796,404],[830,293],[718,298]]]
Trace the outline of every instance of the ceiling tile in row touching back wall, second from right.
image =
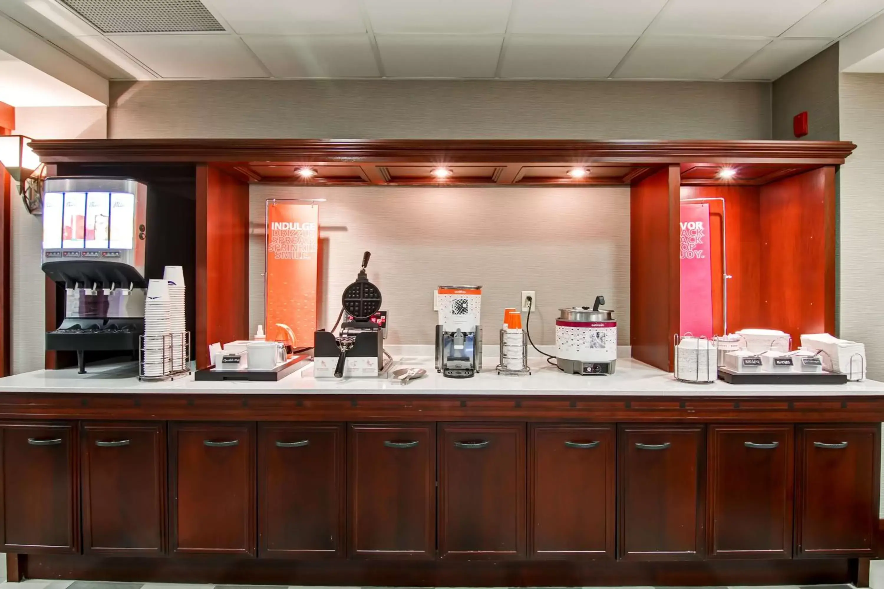
[[720,79],[767,42],[735,37],[649,35],[639,40],[613,77]]

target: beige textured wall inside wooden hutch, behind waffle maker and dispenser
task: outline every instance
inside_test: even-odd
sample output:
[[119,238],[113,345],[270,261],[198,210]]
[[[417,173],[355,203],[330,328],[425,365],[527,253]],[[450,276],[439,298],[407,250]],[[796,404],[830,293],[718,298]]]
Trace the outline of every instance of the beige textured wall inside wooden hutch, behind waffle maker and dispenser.
[[[369,279],[390,312],[388,342],[432,344],[439,284],[481,284],[486,344],[497,344],[503,310],[537,291],[536,344],[552,344],[562,306],[615,311],[629,345],[629,188],[411,188],[253,185],[250,192],[249,324],[263,323],[267,199],[327,199],[319,237],[327,253],[319,325],[331,328],[340,293],[371,252]],[[537,319],[535,319],[537,318]]]

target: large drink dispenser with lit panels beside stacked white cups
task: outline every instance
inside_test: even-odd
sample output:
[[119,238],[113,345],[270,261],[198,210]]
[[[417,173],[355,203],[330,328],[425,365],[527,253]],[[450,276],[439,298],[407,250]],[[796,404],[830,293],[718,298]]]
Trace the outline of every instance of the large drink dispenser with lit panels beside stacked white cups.
[[128,351],[144,334],[147,186],[130,178],[49,177],[43,183],[42,270],[65,286],[65,320],[46,349]]

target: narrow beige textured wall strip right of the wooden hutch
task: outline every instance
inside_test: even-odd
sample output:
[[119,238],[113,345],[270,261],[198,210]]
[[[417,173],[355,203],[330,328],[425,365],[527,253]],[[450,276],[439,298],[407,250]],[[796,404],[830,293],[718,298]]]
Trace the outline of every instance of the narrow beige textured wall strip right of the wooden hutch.
[[884,380],[884,74],[839,86],[841,136],[857,144],[840,174],[841,336],[865,343],[869,378]]

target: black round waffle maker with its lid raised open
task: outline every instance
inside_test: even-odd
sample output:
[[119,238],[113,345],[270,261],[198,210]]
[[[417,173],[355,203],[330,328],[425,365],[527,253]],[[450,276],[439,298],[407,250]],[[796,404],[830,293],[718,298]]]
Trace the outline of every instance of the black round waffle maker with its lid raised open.
[[341,295],[340,316],[347,313],[347,321],[341,324],[339,336],[334,336],[333,328],[316,331],[314,374],[318,377],[377,376],[384,366],[386,314],[380,310],[380,289],[365,273],[370,258],[370,252],[362,255],[356,281]]

